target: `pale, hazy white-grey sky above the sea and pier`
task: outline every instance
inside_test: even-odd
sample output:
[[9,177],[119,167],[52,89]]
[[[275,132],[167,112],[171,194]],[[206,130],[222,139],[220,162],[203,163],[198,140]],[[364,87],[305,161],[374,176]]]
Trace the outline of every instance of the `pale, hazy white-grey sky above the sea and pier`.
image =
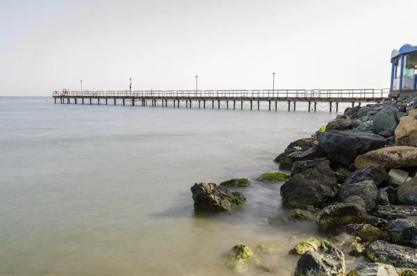
[[[398,3],[402,4],[402,9]],[[0,96],[388,88],[416,0],[0,0]],[[409,22],[408,22],[409,20]]]

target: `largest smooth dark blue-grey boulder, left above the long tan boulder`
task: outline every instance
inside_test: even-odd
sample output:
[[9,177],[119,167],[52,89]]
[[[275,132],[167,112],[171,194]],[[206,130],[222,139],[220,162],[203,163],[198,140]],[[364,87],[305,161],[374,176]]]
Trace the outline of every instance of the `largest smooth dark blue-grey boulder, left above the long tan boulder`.
[[329,159],[346,168],[354,163],[359,154],[386,145],[386,139],[382,136],[351,130],[318,132],[317,140]]

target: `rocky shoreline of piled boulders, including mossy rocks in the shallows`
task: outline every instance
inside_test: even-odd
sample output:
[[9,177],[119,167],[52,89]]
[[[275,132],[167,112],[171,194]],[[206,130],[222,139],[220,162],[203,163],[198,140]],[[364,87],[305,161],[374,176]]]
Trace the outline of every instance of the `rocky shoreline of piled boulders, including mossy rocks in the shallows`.
[[[295,276],[417,275],[417,94],[346,108],[311,137],[290,143],[275,162],[291,176],[266,172],[256,181],[282,183],[283,204],[295,208],[288,219],[313,220],[332,241],[311,237],[291,250],[300,255]],[[191,191],[196,208],[229,211],[246,198],[227,188],[248,185],[230,179]],[[350,241],[337,243],[340,234]],[[347,272],[345,254],[369,263]],[[236,245],[224,263],[236,270],[254,256]]]

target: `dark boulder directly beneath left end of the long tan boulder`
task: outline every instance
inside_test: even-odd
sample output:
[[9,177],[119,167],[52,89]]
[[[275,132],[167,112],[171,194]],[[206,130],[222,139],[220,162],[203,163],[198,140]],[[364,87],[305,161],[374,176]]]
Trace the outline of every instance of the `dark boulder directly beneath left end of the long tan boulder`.
[[358,183],[364,180],[373,180],[377,187],[388,184],[389,176],[382,165],[370,165],[359,168],[347,175],[345,184]]

